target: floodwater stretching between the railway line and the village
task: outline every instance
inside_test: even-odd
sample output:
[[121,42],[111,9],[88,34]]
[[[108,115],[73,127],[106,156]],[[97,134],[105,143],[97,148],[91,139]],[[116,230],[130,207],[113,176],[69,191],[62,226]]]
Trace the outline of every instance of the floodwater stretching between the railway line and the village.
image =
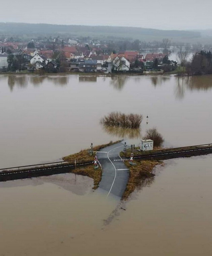
[[111,111],[142,114],[141,136],[156,126],[166,146],[212,143],[211,78],[2,75],[1,168],[55,161],[91,142],[122,139],[125,132],[100,124]]

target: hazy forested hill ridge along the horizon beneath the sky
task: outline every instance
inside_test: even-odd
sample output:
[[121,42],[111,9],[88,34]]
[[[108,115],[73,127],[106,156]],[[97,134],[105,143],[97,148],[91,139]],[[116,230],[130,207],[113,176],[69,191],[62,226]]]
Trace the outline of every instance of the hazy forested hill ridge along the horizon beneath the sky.
[[144,40],[147,38],[199,38],[198,31],[183,30],[159,30],[139,27],[112,27],[112,26],[80,26],[80,25],[53,25],[53,24],[30,24],[30,23],[0,23],[1,34],[66,34],[72,36],[96,36],[136,38]]

